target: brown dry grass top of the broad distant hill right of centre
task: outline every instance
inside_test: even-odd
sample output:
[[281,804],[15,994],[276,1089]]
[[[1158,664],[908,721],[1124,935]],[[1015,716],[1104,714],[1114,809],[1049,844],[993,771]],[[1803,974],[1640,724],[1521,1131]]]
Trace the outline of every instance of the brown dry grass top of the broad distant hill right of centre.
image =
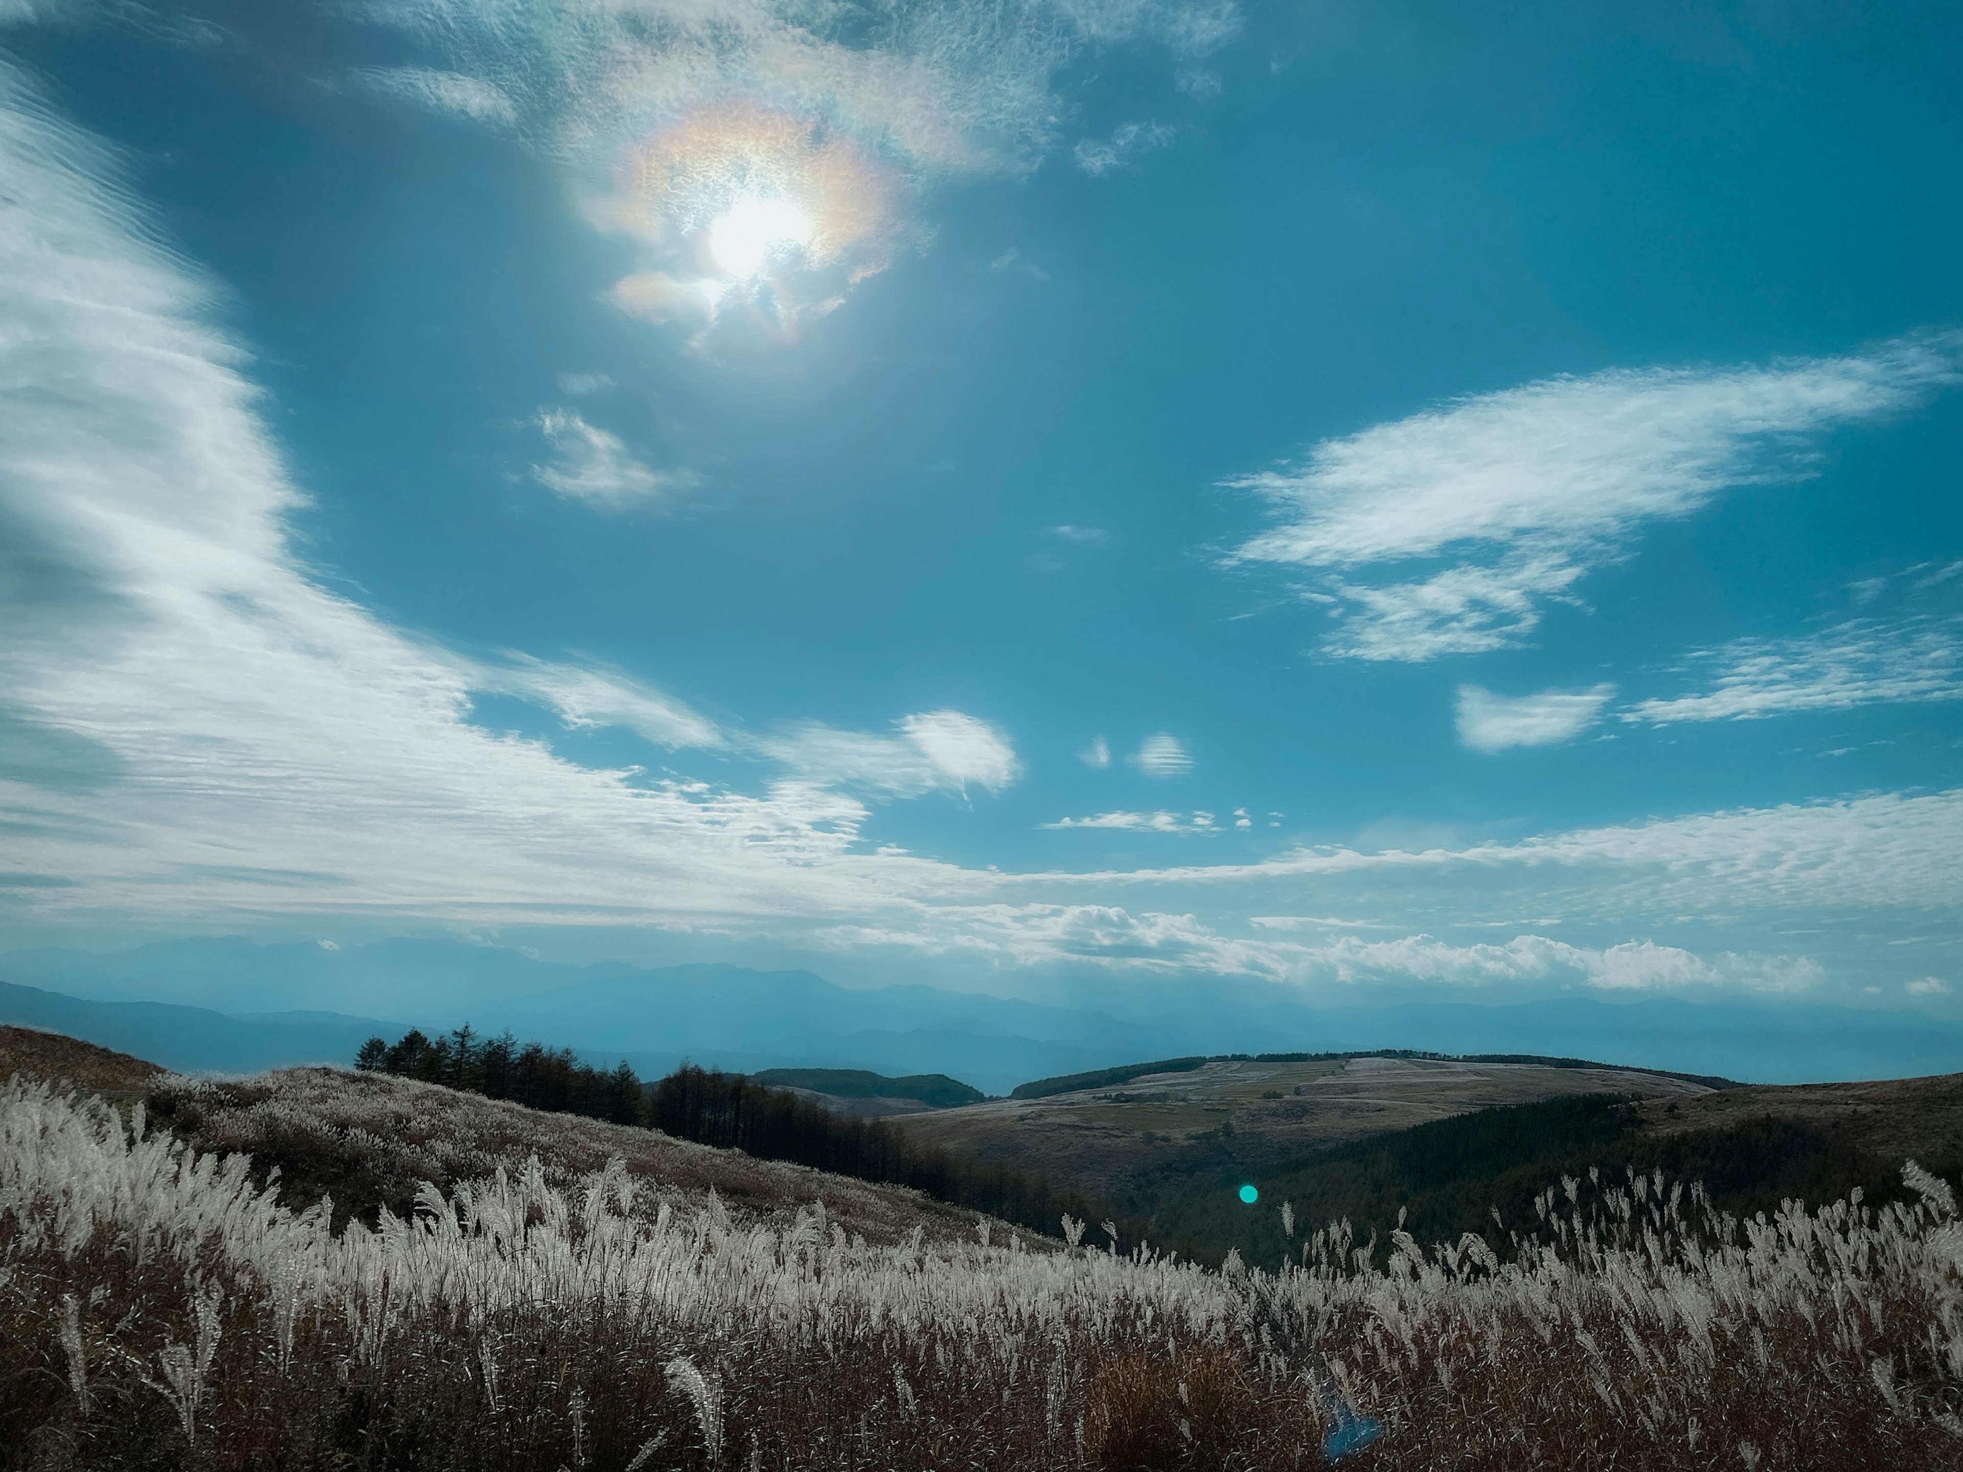
[[1637,1095],[1661,1105],[1712,1089],[1627,1068],[1431,1058],[1211,1062],[1190,1074],[1148,1074],[1117,1087],[1044,1099],[991,1099],[907,1115],[895,1125],[950,1152],[1013,1160],[1095,1195],[1121,1195],[1139,1170],[1178,1160],[1223,1127],[1264,1154],[1309,1152],[1474,1109],[1570,1093]]

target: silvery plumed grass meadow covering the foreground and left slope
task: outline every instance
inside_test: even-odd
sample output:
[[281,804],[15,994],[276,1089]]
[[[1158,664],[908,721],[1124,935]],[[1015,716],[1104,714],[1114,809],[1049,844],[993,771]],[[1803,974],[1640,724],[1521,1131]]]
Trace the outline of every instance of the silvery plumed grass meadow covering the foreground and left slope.
[[[1747,1221],[1568,1176],[1453,1242],[1276,1203],[1286,1258],[1215,1268],[440,1085],[92,1068],[133,1087],[0,1091],[6,1468],[1963,1466],[1963,1223],[1912,1164]],[[330,1201],[192,1115],[424,1174]]]

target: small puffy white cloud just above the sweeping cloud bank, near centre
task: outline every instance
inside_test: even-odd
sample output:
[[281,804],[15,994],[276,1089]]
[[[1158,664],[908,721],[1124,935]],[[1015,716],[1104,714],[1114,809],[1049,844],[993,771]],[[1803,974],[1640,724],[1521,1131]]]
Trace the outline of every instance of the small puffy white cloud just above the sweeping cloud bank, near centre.
[[895,797],[964,793],[970,785],[997,793],[1023,775],[1009,736],[960,710],[905,716],[893,736],[805,722],[756,746],[803,781]]

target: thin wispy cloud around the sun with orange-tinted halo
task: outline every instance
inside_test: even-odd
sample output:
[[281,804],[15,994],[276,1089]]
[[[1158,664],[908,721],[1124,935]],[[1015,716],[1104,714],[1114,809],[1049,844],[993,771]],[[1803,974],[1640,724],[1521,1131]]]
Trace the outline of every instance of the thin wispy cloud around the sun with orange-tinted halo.
[[[357,14],[434,63],[387,86],[477,108],[573,163],[593,220],[640,243],[616,290],[626,310],[711,324],[732,308],[822,314],[930,239],[925,184],[1029,173],[1070,114],[1058,79],[1088,53],[1152,45],[1194,71],[1239,27],[1231,0],[369,0]],[[720,234],[742,239],[718,241],[736,216],[748,224]]]

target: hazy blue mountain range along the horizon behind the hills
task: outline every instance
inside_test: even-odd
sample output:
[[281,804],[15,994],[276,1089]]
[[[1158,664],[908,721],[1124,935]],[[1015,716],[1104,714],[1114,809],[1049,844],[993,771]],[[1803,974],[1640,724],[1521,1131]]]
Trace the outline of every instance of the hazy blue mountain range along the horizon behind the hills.
[[349,1062],[373,1032],[463,1021],[626,1058],[644,1078],[693,1058],[746,1072],[948,1074],[987,1093],[1144,1058],[1347,1048],[1531,1052],[1765,1083],[1963,1072],[1963,1025],[1792,1001],[1319,1009],[1209,995],[1115,1017],[928,985],[852,989],[811,972],[563,966],[448,940],[326,950],[228,936],[0,956],[0,1023],[179,1070]]

